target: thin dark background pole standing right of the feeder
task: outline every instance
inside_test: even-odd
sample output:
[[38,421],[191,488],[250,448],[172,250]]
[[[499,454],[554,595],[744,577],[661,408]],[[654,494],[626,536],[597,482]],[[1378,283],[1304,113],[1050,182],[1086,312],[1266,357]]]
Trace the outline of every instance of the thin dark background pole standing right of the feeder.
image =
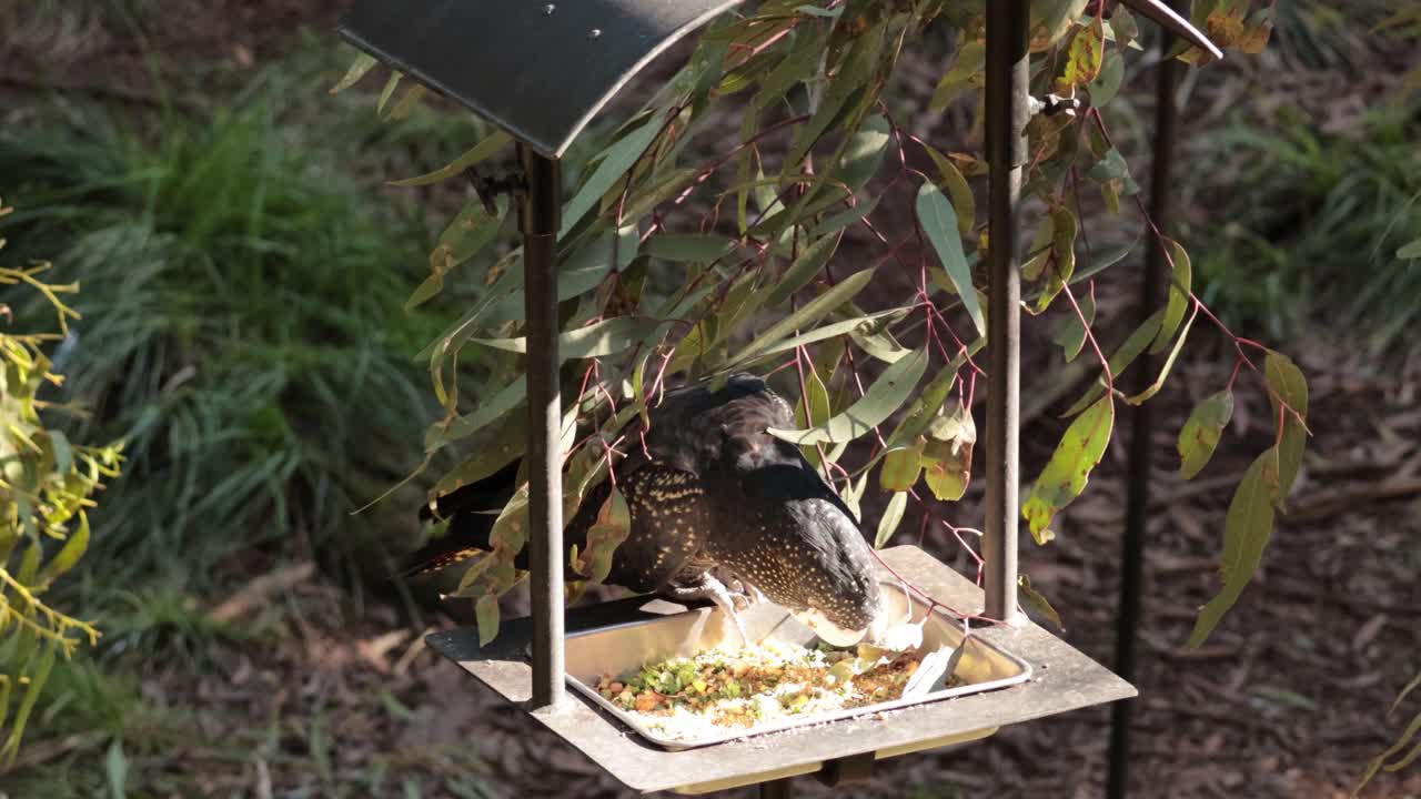
[[[1161,31],[1160,53],[1174,47],[1174,36]],[[1179,61],[1160,63],[1155,84],[1155,141],[1154,165],[1150,178],[1150,216],[1161,230],[1169,213],[1169,166],[1174,162],[1178,104],[1175,90],[1179,81]],[[1140,283],[1137,314],[1142,323],[1160,301],[1164,272],[1164,243],[1151,239],[1145,250],[1145,267]],[[1134,391],[1144,391],[1155,374],[1155,357],[1141,354],[1135,371]],[[1145,523],[1150,510],[1150,455],[1154,439],[1154,404],[1145,402],[1131,412],[1130,466],[1125,485],[1125,535],[1120,556],[1120,614],[1115,620],[1115,674],[1135,678],[1135,631],[1140,627],[1140,606],[1144,584]],[[1106,796],[1124,799],[1130,769],[1130,712],[1134,702],[1115,702],[1110,726],[1110,781]]]

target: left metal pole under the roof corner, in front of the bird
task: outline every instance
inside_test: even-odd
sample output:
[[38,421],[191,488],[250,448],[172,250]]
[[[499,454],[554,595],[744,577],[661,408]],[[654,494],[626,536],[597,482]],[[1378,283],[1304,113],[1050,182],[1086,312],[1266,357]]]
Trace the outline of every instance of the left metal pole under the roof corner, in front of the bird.
[[561,179],[557,161],[519,145],[526,176],[519,203],[523,293],[527,314],[529,560],[533,594],[533,708],[564,695],[563,653],[563,452],[557,353],[557,229]]

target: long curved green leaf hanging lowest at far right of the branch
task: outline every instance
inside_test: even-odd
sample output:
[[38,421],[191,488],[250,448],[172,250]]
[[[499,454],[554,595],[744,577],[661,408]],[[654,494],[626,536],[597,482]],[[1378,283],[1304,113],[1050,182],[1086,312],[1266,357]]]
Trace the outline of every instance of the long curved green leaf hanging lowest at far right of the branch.
[[1199,610],[1188,645],[1198,648],[1219,626],[1223,614],[1243,594],[1253,577],[1268,539],[1273,535],[1273,499],[1277,496],[1277,449],[1269,448],[1243,472],[1223,519],[1223,587]]

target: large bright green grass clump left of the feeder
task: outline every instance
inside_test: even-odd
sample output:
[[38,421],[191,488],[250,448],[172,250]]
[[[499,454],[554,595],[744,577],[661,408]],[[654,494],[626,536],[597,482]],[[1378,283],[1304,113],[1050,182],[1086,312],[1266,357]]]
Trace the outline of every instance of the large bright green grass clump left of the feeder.
[[352,142],[279,122],[266,94],[155,122],[0,135],[26,209],[0,235],[82,286],[55,354],[75,424],[128,444],[92,584],[185,590],[254,545],[377,540],[350,513],[418,463],[433,418],[411,357],[443,320],[402,310],[426,232],[340,168]]

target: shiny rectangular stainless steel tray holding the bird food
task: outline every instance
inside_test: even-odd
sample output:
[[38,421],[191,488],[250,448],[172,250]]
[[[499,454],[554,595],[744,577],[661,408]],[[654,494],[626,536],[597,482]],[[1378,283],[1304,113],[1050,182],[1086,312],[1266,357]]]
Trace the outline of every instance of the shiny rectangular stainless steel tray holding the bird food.
[[[894,618],[904,618],[908,599],[895,583],[884,583],[887,597],[892,603]],[[818,637],[787,610],[772,603],[757,603],[740,611],[740,621],[752,641],[779,641],[799,645],[814,645]],[[922,645],[917,650],[925,655],[942,647],[956,650],[963,647],[962,657],[953,674],[965,684],[948,688],[948,674],[942,675],[928,692],[890,702],[863,705],[828,714],[811,714],[803,718],[776,721],[745,729],[728,731],[723,735],[681,739],[669,738],[649,728],[635,714],[624,711],[597,692],[597,681],[603,674],[614,677],[635,671],[648,663],[672,657],[693,657],[720,644],[735,645],[739,636],[735,624],[715,607],[702,607],[662,616],[651,620],[610,624],[567,636],[567,684],[587,697],[593,704],[634,729],[644,739],[671,751],[682,751],[713,744],[725,744],[737,738],[764,735],[813,726],[867,714],[877,714],[924,702],[935,702],[952,697],[980,694],[1007,685],[1025,682],[1032,677],[1032,667],[1022,658],[982,640],[978,636],[965,637],[962,623],[941,610],[928,611],[928,604],[914,597],[912,621],[922,624]],[[963,645],[963,638],[966,640]]]

